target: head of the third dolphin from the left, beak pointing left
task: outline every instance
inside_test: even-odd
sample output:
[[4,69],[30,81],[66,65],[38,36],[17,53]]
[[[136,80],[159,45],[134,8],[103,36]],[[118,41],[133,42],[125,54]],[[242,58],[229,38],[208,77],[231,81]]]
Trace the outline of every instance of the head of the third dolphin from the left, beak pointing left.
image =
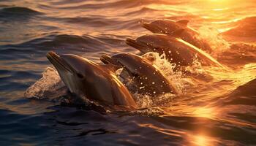
[[142,53],[158,52],[163,48],[170,47],[170,41],[173,37],[166,36],[164,34],[146,34],[137,39],[127,39],[127,45],[135,47]]

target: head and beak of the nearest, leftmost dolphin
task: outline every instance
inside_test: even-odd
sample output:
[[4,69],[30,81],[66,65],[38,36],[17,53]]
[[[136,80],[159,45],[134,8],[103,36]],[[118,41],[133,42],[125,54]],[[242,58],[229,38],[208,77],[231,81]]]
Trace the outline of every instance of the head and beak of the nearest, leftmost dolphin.
[[47,53],[47,58],[59,72],[59,75],[69,91],[84,95],[83,82],[88,80],[89,74],[94,71],[95,63],[78,55],[57,55],[53,51]]

